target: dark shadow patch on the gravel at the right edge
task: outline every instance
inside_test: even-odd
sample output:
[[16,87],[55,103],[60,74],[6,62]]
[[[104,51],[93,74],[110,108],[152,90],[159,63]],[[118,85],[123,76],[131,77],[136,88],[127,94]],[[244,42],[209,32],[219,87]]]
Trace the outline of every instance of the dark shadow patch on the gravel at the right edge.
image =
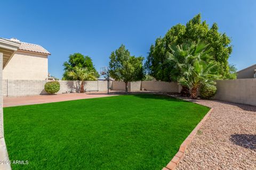
[[253,134],[231,134],[230,139],[235,145],[256,151],[256,135]]

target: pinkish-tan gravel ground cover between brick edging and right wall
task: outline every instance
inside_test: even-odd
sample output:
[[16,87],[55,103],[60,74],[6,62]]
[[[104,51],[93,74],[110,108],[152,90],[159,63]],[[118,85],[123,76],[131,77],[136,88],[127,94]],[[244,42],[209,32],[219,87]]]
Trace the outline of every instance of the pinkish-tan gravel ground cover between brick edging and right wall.
[[177,169],[256,169],[256,107],[190,100],[213,112],[188,146]]

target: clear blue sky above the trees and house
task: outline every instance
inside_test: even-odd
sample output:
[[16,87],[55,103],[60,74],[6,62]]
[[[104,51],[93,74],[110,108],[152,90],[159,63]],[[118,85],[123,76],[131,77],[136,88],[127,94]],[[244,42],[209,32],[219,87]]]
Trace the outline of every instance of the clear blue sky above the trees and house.
[[62,77],[63,62],[89,55],[97,70],[124,44],[146,58],[149,47],[177,23],[198,13],[231,37],[229,58],[238,70],[256,64],[256,1],[3,1],[0,37],[42,45],[49,72]]

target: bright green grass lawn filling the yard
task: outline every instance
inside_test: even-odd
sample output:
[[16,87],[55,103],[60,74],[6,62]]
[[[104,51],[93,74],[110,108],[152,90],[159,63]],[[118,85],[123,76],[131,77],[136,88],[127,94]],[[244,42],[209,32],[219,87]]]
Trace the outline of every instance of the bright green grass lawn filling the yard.
[[208,107],[140,94],[4,108],[15,169],[162,169]]

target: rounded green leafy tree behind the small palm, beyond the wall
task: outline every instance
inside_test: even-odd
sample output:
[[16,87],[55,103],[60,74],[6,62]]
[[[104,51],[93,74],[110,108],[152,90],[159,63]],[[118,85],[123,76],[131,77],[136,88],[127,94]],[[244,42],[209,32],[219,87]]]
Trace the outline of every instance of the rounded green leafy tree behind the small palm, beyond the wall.
[[73,71],[75,67],[87,68],[87,70],[93,72],[95,77],[100,77],[99,73],[93,66],[92,59],[89,56],[84,56],[80,53],[74,53],[69,55],[68,62],[65,62],[63,66],[65,72],[63,73],[62,80],[74,80],[68,75],[68,72]]

